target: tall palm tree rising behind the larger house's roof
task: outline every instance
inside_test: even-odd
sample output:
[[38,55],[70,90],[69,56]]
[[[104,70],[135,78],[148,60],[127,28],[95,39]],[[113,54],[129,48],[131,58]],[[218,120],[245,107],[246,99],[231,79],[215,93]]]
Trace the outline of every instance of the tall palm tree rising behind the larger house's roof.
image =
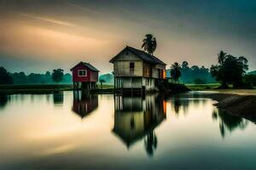
[[146,34],[145,38],[143,39],[143,50],[148,52],[148,54],[153,55],[156,46],[157,43],[155,37],[153,37],[152,34]]

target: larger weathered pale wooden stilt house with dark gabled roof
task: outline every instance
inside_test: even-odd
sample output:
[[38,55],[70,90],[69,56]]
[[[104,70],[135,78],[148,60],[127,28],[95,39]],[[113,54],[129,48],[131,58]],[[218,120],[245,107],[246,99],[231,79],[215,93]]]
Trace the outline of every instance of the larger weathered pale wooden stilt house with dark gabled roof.
[[166,78],[166,64],[154,55],[126,46],[109,61],[113,63],[115,89],[158,89]]

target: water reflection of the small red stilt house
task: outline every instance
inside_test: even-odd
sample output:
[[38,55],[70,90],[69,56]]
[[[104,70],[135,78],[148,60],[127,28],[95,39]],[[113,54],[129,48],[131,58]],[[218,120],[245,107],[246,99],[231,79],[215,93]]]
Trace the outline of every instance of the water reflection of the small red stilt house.
[[87,91],[73,91],[72,111],[82,119],[98,107],[98,95],[89,94]]

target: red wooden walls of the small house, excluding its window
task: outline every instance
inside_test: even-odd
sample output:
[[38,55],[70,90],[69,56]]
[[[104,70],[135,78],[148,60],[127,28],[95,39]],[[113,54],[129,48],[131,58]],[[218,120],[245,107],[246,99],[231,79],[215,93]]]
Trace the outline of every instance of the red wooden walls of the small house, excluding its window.
[[[79,70],[86,70],[87,76],[86,77],[79,77]],[[77,67],[73,68],[73,82],[97,82],[98,72],[90,71],[84,65],[78,65]]]

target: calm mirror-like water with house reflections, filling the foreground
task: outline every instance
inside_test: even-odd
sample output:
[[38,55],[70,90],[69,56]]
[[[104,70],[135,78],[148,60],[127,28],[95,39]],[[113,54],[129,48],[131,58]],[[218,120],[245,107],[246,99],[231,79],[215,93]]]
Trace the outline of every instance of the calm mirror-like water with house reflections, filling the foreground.
[[180,94],[0,98],[0,169],[256,169],[256,126]]

